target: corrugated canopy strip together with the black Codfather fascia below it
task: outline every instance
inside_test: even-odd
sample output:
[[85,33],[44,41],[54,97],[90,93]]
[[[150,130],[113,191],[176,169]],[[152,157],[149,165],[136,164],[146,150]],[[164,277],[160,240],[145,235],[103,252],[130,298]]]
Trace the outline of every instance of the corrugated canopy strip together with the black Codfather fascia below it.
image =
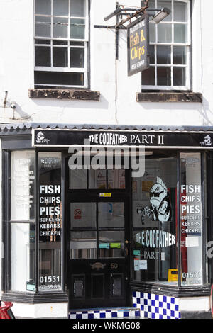
[[213,149],[213,126],[72,123],[1,124],[0,137],[31,135],[32,147],[145,146]]

